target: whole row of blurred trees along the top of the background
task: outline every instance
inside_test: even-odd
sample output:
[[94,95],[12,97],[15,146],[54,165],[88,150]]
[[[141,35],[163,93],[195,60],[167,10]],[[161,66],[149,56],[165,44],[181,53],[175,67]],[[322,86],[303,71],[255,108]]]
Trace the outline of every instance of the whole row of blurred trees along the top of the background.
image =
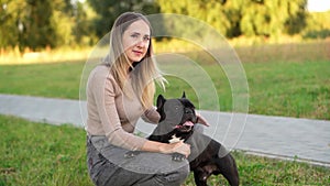
[[[227,37],[283,34],[329,36],[306,10],[307,0],[0,0],[0,48],[38,50],[94,44],[108,33],[119,14],[185,14],[213,26]],[[91,13],[92,12],[92,13]],[[94,14],[94,17],[91,17]],[[204,34],[201,28],[174,24],[176,31]],[[306,29],[309,28],[309,29]],[[165,28],[170,30],[170,28]]]

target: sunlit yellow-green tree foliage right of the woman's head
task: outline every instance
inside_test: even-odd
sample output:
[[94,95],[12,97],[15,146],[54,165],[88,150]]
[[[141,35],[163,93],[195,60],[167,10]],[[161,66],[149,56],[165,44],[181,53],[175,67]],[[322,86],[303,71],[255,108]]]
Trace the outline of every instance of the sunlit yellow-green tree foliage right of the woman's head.
[[164,13],[202,20],[228,37],[295,34],[305,26],[307,0],[157,0]]

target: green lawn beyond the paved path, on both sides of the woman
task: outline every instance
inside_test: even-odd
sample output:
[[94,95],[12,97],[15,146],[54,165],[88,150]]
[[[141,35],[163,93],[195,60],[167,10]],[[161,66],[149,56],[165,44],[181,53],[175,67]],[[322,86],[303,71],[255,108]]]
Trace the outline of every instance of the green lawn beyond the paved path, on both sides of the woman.
[[[326,45],[307,46],[278,45],[237,50],[249,83],[250,113],[330,120],[330,56],[324,50],[323,55],[319,54],[322,52],[320,47],[327,47]],[[191,58],[212,79],[219,96],[218,101],[204,98],[202,101],[207,103],[202,109],[215,110],[213,105],[220,105],[221,111],[232,111],[232,91],[222,68],[196,53]],[[84,65],[84,61],[2,65],[0,92],[79,99]],[[183,79],[167,78],[169,84],[166,92],[162,94],[166,97],[178,97],[185,90],[188,98],[199,106],[195,95],[197,90]]]

